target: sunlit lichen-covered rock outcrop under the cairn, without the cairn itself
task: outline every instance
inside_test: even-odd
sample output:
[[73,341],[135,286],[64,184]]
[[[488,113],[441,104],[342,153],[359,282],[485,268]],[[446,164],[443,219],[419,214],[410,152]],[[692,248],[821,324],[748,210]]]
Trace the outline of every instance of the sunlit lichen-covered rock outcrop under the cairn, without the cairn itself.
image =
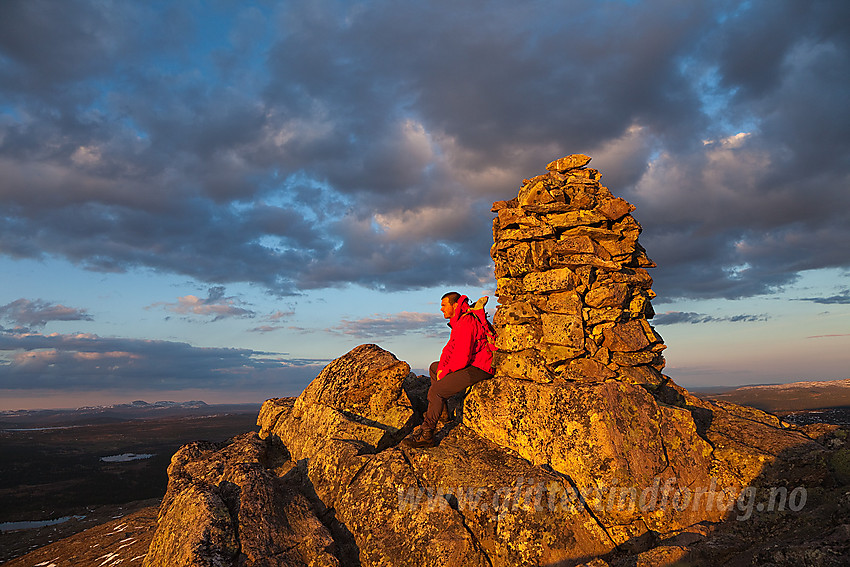
[[[259,435],[181,448],[145,564],[614,565],[637,553],[655,565],[705,539],[706,510],[714,521],[741,513],[730,488],[741,478],[769,486],[773,464],[790,486],[830,482],[824,449],[769,414],[673,385],[659,401],[616,380],[557,392],[528,381],[513,403],[519,390],[499,390],[512,379],[496,377],[473,388],[437,447],[408,449],[397,441],[426,380],[363,345],[297,399],[267,401]],[[483,416],[483,399],[526,410]],[[701,496],[712,507],[692,506],[680,489],[696,498],[712,467]],[[688,476],[656,474],[670,470]]]

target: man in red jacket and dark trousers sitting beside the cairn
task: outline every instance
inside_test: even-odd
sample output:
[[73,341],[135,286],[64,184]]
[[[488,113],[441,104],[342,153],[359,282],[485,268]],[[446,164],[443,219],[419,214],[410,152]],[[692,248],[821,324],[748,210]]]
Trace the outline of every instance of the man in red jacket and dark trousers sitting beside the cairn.
[[[486,300],[486,298],[485,298]],[[440,311],[452,332],[439,362],[431,364],[431,387],[425,420],[405,439],[410,447],[433,447],[437,421],[450,420],[446,401],[453,395],[493,376],[493,353],[484,327],[470,312],[469,298],[456,291],[443,295]]]

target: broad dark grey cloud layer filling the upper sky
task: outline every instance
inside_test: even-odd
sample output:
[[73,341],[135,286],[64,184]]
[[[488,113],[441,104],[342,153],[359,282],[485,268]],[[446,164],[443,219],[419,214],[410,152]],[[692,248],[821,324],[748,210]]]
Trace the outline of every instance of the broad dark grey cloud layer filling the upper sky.
[[162,10],[0,3],[0,253],[280,295],[479,284],[490,203],[584,152],[662,299],[850,265],[845,2]]

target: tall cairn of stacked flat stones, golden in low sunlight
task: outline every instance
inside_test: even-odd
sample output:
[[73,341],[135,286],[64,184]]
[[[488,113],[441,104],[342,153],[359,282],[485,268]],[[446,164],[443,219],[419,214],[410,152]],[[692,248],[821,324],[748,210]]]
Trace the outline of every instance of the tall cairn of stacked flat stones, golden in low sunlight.
[[541,383],[661,383],[666,348],[649,324],[655,267],[635,207],[571,155],[492,211],[499,307],[496,374]]

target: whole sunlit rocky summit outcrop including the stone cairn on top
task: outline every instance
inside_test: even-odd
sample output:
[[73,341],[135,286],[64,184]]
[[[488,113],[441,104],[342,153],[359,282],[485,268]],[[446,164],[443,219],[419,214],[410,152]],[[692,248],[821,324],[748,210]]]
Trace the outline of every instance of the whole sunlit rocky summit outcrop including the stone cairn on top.
[[359,346],[259,435],[174,456],[145,564],[660,565],[742,494],[833,483],[804,431],[661,374],[640,227],[588,161],[495,205],[497,373],[437,447],[399,444],[429,379]]

